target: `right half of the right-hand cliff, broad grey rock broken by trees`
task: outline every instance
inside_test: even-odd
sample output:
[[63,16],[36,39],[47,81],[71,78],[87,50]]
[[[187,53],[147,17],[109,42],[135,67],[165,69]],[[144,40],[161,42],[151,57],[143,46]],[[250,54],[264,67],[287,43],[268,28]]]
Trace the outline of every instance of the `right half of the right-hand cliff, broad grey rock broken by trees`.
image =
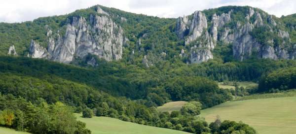
[[[249,32],[252,32],[254,27],[260,27],[261,17],[258,12],[255,14],[257,19],[254,25],[246,23],[242,26],[236,33],[233,41],[233,56],[238,60],[248,59],[252,54],[257,54],[259,58],[263,59],[289,59],[290,54],[287,50],[277,47],[276,49],[270,45],[259,44],[254,37],[252,37]],[[290,38],[289,33],[279,30],[279,36],[282,38]],[[273,44],[273,40],[268,41],[269,44]],[[284,43],[284,42],[283,42]]]

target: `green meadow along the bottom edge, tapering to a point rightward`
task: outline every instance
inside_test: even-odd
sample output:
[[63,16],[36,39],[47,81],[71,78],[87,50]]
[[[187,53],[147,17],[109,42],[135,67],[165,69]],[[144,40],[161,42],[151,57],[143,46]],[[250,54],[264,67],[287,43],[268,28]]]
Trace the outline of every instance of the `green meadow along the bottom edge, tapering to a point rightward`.
[[190,134],[182,131],[124,122],[109,117],[82,118],[80,117],[81,114],[75,115],[78,120],[86,123],[86,128],[91,130],[91,134]]

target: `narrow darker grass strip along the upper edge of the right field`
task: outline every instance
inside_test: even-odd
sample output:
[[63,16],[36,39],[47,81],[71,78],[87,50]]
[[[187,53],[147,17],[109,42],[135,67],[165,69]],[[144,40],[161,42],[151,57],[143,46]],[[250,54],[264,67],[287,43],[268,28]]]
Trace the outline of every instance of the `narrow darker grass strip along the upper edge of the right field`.
[[280,93],[269,93],[269,94],[255,94],[251,96],[238,97],[233,101],[240,100],[252,100],[252,99],[267,99],[267,98],[280,98],[280,97],[296,97],[296,90],[290,90]]

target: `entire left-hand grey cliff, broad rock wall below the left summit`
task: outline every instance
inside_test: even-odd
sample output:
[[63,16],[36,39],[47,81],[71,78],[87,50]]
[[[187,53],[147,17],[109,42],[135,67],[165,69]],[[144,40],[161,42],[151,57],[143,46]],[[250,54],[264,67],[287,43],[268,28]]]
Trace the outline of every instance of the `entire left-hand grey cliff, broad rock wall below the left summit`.
[[[100,7],[97,11],[104,12]],[[123,30],[107,16],[89,17],[89,22],[83,17],[73,17],[67,24],[66,33],[56,39],[51,30],[48,30],[47,50],[32,41],[30,56],[33,58],[45,58],[60,63],[70,63],[75,58],[83,58],[87,54],[93,54],[107,61],[122,58],[122,45],[127,38],[123,37]]]

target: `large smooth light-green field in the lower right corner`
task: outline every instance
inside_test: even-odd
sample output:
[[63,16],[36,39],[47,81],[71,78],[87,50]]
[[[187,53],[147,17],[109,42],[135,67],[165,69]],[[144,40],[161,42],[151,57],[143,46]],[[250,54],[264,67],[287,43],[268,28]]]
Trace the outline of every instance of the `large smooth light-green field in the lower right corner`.
[[228,101],[201,111],[201,117],[213,122],[243,121],[259,134],[296,134],[296,97]]

